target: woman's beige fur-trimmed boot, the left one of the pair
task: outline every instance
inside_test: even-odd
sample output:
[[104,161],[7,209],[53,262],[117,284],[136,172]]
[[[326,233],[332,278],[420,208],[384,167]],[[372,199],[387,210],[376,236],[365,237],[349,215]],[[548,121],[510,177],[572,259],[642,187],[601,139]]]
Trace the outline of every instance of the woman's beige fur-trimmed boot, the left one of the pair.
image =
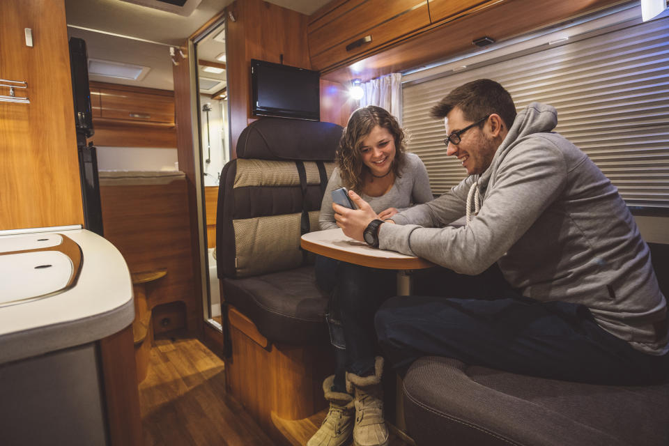
[[353,396],[345,392],[333,392],[332,383],[334,375],[323,381],[323,393],[325,399],[330,401],[330,410],[307,446],[341,446],[351,443],[355,412]]

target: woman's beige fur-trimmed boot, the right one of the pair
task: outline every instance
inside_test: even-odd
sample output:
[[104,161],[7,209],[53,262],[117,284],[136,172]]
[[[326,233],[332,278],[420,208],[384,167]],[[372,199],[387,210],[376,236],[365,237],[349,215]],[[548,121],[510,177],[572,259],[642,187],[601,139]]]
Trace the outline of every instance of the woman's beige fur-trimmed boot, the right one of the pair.
[[387,446],[388,428],[383,418],[383,357],[374,362],[374,375],[357,376],[346,372],[346,390],[355,392],[354,446]]

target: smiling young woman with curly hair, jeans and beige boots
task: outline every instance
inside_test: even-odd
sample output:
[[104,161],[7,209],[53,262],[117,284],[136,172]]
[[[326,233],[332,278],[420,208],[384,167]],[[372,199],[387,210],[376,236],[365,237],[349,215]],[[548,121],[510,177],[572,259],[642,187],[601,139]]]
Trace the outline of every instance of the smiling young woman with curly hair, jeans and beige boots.
[[[380,219],[433,198],[424,164],[404,151],[399,123],[374,105],[353,112],[341,136],[337,167],[321,203],[321,229],[337,228],[331,192],[339,187],[357,192]],[[323,382],[330,410],[307,446],[344,445],[351,436],[354,445],[386,445],[374,313],[395,294],[395,272],[318,256],[316,279],[330,293],[326,316],[337,370]]]

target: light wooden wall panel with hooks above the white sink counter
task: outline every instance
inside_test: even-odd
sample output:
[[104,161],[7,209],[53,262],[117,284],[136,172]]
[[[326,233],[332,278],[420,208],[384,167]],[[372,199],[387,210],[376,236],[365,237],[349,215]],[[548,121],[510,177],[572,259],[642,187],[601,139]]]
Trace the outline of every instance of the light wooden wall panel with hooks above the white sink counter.
[[0,230],[84,224],[63,0],[1,2],[0,77],[30,99],[0,102]]

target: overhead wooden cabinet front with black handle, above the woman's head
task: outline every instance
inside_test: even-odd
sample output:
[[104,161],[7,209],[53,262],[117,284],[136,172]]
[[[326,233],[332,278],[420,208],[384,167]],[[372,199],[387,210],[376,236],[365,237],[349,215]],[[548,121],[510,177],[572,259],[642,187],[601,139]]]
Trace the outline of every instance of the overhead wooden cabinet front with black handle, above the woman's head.
[[[312,69],[337,65],[429,23],[427,1],[367,0],[309,34]],[[367,36],[371,41],[356,45]]]

